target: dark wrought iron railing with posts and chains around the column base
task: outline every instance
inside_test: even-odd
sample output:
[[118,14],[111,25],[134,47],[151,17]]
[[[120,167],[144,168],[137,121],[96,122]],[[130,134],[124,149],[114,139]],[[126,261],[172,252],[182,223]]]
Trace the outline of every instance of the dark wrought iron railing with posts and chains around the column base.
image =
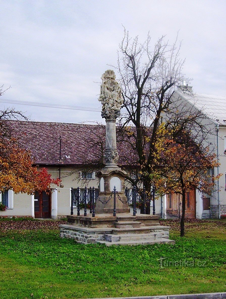
[[87,188],[83,189],[83,196],[81,196],[81,189],[77,187],[76,189],[71,188],[71,215],[73,215],[73,207],[77,207],[77,216],[80,216],[80,206],[84,205],[84,216],[87,216],[87,207],[90,209],[90,214],[92,217],[95,217],[95,204],[97,201],[102,202],[103,205],[107,204],[110,199],[113,197],[113,216],[116,216],[116,197],[122,203],[128,203],[133,207],[133,216],[136,216],[137,205],[139,204],[141,213],[146,214],[146,205],[150,204],[150,201],[153,200],[153,215],[155,215],[155,189],[152,190],[151,196],[146,192],[145,188],[137,189],[136,186],[133,186],[131,193],[126,187],[125,189],[126,200],[123,200],[120,196],[116,187],[114,186],[113,191],[110,196],[106,199],[100,199],[96,194],[96,189]]

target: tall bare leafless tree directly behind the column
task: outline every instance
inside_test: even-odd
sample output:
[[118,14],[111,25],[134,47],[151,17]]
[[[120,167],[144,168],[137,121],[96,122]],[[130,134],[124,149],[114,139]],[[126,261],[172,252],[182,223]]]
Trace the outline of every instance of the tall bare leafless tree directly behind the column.
[[152,49],[149,34],[144,43],[139,43],[137,36],[130,39],[124,29],[118,52],[117,69],[124,98],[122,108],[126,109],[119,120],[119,126],[122,132],[128,131],[125,128],[129,125],[135,126],[134,130],[127,132],[130,137],[127,139],[130,142],[133,138],[139,178],[148,191],[154,184],[148,174],[155,164],[154,144],[161,114],[168,111],[173,90],[185,79],[182,74],[184,60],[179,57],[180,43],[176,38],[173,45],[170,45],[164,39],[162,36]]

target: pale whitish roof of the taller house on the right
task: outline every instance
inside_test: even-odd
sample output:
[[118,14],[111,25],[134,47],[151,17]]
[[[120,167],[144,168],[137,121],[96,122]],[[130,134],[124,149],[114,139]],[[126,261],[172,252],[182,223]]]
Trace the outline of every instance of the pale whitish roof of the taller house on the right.
[[191,95],[180,90],[176,92],[212,119],[214,123],[226,125],[226,96],[200,93]]

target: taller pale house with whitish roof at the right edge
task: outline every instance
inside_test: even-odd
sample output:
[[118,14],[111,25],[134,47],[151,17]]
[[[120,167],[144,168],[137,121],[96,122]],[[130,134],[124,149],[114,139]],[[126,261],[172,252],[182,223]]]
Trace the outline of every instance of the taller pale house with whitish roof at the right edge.
[[[193,94],[191,86],[182,86],[172,94],[172,105],[175,105],[180,113],[186,109],[194,111],[197,109],[202,112],[201,119],[209,131],[207,143],[210,143],[216,153],[216,158],[220,166],[214,169],[214,175],[222,173],[219,181],[216,182],[216,190],[212,196],[200,194],[197,190],[193,194],[195,205],[193,207],[196,218],[220,218],[226,214],[226,96],[216,96],[209,94]],[[164,116],[163,116],[164,117]],[[175,216],[180,213],[181,201],[177,194],[174,198],[165,199],[166,215]],[[173,197],[172,196],[172,197]],[[189,208],[186,209],[189,212]],[[186,213],[185,213],[186,217]]]

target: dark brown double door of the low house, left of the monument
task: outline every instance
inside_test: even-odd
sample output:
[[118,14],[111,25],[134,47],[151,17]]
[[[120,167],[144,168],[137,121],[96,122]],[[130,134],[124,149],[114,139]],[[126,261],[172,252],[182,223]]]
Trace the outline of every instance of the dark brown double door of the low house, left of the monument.
[[50,218],[50,194],[35,192],[35,218]]

